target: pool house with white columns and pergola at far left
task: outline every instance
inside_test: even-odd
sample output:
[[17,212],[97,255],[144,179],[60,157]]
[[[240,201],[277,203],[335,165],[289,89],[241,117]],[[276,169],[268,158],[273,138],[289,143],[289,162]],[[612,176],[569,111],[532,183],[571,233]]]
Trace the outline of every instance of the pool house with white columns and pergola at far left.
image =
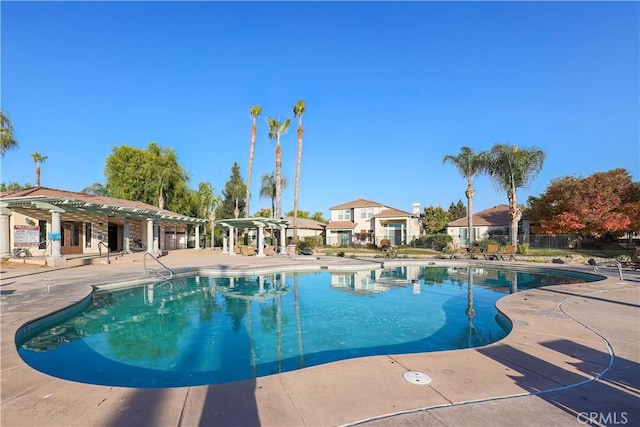
[[190,238],[198,248],[204,223],[137,201],[47,187],[10,190],[0,193],[0,256],[23,248],[62,266],[66,255],[159,253],[187,248]]

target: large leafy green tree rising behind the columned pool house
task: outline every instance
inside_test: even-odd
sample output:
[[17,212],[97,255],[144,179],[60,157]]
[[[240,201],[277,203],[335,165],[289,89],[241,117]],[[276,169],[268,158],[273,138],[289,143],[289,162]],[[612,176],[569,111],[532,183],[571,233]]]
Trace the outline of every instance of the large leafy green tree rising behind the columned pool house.
[[159,147],[155,142],[146,149],[114,147],[106,160],[105,177],[113,197],[198,216],[196,192],[189,188],[189,174],[171,148]]

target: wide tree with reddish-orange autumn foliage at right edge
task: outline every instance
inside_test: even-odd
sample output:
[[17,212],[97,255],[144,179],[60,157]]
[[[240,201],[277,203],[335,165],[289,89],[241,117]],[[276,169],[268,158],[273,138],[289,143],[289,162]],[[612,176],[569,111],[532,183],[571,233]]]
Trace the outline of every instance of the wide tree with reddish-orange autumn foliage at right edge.
[[559,178],[529,198],[528,213],[543,233],[621,236],[640,229],[640,183],[626,169]]

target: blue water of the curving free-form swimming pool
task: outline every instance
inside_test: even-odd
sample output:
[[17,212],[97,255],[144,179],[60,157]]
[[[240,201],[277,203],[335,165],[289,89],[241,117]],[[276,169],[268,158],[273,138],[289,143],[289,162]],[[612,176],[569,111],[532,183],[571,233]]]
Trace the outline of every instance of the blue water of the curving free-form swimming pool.
[[17,345],[33,368],[73,381],[215,384],[486,345],[510,331],[495,308],[505,293],[590,280],[468,266],[195,276],[97,291],[74,314],[19,333]]

